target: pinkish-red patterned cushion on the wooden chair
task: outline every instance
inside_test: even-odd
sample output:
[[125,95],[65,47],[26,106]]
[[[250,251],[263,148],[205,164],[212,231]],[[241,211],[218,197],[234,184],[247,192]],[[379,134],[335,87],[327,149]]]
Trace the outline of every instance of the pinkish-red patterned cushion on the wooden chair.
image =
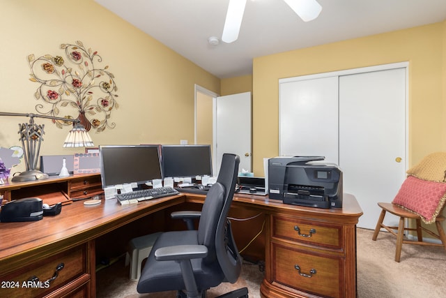
[[433,223],[446,200],[446,183],[408,176],[392,203],[419,215],[424,223]]

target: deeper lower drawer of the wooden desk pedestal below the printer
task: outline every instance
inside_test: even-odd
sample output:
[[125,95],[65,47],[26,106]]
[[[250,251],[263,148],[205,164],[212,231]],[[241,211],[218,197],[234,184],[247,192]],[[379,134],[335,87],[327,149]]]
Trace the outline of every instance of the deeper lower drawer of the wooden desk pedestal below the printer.
[[272,282],[323,297],[342,297],[342,258],[272,244]]

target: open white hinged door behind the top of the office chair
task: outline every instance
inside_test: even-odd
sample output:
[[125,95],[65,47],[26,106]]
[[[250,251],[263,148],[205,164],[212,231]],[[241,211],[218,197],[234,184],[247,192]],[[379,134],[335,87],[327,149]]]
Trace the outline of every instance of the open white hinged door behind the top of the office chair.
[[217,172],[224,153],[240,156],[239,172],[252,171],[251,92],[217,97],[215,144]]

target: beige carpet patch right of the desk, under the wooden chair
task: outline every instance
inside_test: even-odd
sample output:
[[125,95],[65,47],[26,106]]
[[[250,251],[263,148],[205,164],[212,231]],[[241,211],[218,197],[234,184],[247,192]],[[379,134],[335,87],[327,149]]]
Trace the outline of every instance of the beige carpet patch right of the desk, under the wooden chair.
[[441,247],[403,244],[395,262],[396,238],[373,230],[357,229],[357,296],[446,297],[446,251]]

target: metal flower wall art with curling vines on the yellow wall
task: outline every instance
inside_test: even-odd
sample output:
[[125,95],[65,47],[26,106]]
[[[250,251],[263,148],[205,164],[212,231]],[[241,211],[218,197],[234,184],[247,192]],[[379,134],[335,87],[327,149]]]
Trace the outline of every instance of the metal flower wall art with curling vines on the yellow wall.
[[[109,66],[101,68],[98,52],[84,47],[77,40],[74,45],[63,43],[62,56],[45,54],[36,58],[29,54],[31,82],[39,84],[34,98],[44,103],[36,105],[36,111],[55,117],[79,119],[87,131],[104,131],[116,124],[109,119],[112,110],[118,108],[116,83]],[[72,125],[72,121],[53,120],[57,127]]]

